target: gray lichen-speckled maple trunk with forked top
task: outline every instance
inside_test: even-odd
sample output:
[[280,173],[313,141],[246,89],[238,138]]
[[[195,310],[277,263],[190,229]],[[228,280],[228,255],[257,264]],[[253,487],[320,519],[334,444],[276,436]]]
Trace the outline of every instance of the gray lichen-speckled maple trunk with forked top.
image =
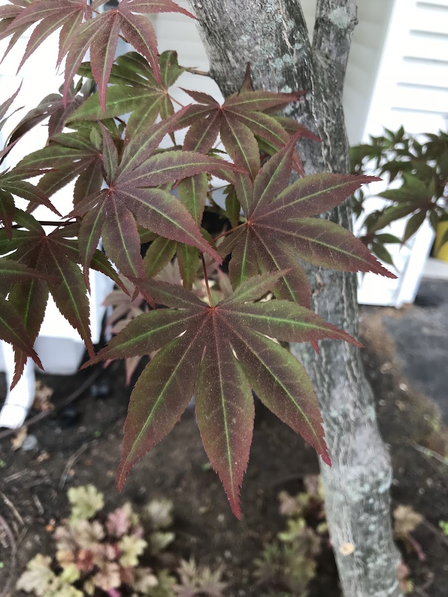
[[[318,0],[309,42],[299,0],[190,0],[211,63],[210,74],[228,96],[237,91],[250,62],[255,88],[307,89],[303,102],[286,110],[323,143],[299,142],[305,173],[346,173],[348,141],[342,88],[354,0]],[[326,214],[351,227],[349,201]],[[356,278],[308,267],[315,312],[358,336]],[[391,463],[378,430],[372,389],[359,350],[336,341],[320,343],[320,356],[291,346],[314,383],[332,457],[321,472],[327,521],[345,597],[397,597],[400,562],[394,545],[389,497]]]

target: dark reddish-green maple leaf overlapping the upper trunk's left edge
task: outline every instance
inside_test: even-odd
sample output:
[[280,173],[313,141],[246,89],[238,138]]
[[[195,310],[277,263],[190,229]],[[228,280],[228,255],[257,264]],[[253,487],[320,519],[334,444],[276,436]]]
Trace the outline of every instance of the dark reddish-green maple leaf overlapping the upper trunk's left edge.
[[[260,151],[256,137],[270,144],[274,151],[283,147],[290,139],[290,134],[283,125],[266,113],[266,110],[278,112],[305,93],[253,91],[244,84],[240,93],[232,94],[220,106],[207,93],[186,89],[183,91],[198,102],[189,107],[176,127],[189,127],[183,149],[207,153],[220,134],[226,152],[252,178],[260,170]],[[300,128],[300,134],[311,135],[305,127]],[[294,155],[294,165],[299,172],[302,171],[302,163],[297,154]]]

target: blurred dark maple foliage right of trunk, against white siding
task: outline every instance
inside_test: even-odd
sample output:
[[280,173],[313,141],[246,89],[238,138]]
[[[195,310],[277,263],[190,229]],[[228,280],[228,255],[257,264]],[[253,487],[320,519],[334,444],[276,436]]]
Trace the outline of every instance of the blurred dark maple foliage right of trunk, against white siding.
[[[385,129],[382,136],[370,136],[370,143],[352,147],[350,156],[352,173],[375,174],[389,183],[395,181],[393,188],[378,193],[385,199],[385,207],[367,214],[360,236],[376,257],[393,264],[385,245],[406,243],[426,218],[434,230],[448,218],[448,134],[439,131],[437,135],[425,133],[417,138],[403,127],[396,132]],[[362,216],[369,196],[362,189],[355,192],[353,207],[357,217]],[[400,239],[390,234],[387,227],[404,217],[408,220]],[[440,239],[438,248],[445,242],[448,234]]]

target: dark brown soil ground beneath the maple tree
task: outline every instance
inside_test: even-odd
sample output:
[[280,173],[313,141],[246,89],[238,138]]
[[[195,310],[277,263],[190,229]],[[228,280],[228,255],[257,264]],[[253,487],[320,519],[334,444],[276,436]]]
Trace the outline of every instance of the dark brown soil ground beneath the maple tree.
[[[448,519],[448,467],[419,447],[446,454],[448,440],[437,407],[413,392],[401,377],[382,313],[375,309],[364,313],[368,348],[363,350],[363,359],[378,398],[381,430],[391,447],[395,476],[392,497],[395,504],[409,504],[425,517],[414,533],[425,561],[407,551],[407,546],[400,547],[411,569],[415,595],[444,597],[448,541],[438,522]],[[54,387],[53,402],[58,404],[90,374],[44,377],[44,381]],[[105,397],[86,393],[72,407],[30,427],[38,450],[13,451],[11,438],[0,442],[0,513],[17,543],[17,551],[11,556],[10,537],[0,518],[0,562],[4,562],[0,595],[8,578],[11,589],[7,594],[22,595],[13,588],[16,579],[35,553],[52,553],[49,529],[67,516],[67,488],[93,483],[105,493],[107,509],[125,500],[141,504],[155,496],[172,498],[177,537],[174,551],[186,558],[195,556],[203,564],[224,564],[230,583],[228,595],[259,596],[253,561],[263,544],[283,528],[278,493],[301,490],[303,475],[318,472],[311,448],[268,411],[257,408],[242,491],[243,519],[239,522],[232,516],[219,479],[207,467],[194,415],[188,411],[173,432],[136,464],[119,495],[114,478],[129,390],[120,364],[110,368],[105,380],[110,386]],[[321,555],[317,578],[309,588],[309,597],[340,595],[330,549]]]

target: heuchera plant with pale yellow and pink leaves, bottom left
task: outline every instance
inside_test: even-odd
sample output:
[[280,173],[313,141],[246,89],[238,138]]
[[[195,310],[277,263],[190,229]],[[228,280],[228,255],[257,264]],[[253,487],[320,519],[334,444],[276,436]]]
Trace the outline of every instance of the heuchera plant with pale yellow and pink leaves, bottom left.
[[[136,512],[125,503],[103,512],[93,485],[71,488],[70,517],[54,532],[56,558],[38,553],[26,565],[17,589],[37,597],[220,597],[222,571],[180,561],[177,576],[162,558],[174,541],[173,504],[155,499]],[[174,565],[176,569],[176,565]]]

